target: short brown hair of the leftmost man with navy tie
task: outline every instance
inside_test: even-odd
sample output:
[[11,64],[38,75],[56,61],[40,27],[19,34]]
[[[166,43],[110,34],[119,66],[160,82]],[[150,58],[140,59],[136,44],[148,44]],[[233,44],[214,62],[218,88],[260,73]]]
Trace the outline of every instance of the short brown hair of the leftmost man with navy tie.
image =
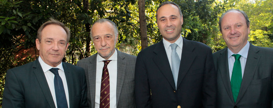
[[42,30],[43,30],[47,25],[51,25],[51,24],[53,24],[53,25],[58,25],[58,26],[62,27],[62,28],[65,30],[66,35],[67,35],[66,41],[67,41],[67,43],[68,43],[68,42],[69,42],[69,39],[70,39],[70,30],[69,30],[69,28],[66,27],[64,23],[62,23],[62,22],[60,22],[60,21],[58,21],[58,20],[56,20],[56,19],[53,19],[53,18],[50,18],[49,21],[43,23],[42,26],[38,29],[38,32],[37,32],[37,39],[39,40],[39,42],[41,42]]

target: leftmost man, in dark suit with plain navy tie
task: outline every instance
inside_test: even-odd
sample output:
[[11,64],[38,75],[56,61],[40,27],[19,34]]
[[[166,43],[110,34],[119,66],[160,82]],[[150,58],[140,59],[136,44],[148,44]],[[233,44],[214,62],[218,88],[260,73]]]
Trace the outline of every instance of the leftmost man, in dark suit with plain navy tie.
[[2,108],[88,107],[83,68],[62,62],[69,38],[63,23],[43,23],[36,39],[39,58],[7,70]]

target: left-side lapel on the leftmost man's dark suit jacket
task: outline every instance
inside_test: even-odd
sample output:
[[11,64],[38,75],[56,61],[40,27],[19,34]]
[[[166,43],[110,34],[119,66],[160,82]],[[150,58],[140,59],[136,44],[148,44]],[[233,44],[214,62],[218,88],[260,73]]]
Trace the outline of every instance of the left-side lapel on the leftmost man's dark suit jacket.
[[43,91],[45,98],[47,99],[49,106],[51,108],[56,108],[53,98],[52,98],[52,95],[51,95],[51,92],[50,92],[50,89],[47,84],[47,79],[45,77],[45,74],[43,73],[43,69],[42,69],[38,59],[35,60],[35,64],[33,65],[32,68],[33,68],[33,73],[37,78],[37,81]]

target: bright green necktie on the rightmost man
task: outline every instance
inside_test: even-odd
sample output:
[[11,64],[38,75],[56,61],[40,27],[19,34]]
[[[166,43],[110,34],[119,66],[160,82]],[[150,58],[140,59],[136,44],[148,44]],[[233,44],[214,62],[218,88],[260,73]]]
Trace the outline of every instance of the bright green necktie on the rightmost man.
[[236,102],[242,82],[242,68],[240,63],[241,55],[233,54],[232,56],[235,57],[235,62],[233,65],[230,85],[234,102]]

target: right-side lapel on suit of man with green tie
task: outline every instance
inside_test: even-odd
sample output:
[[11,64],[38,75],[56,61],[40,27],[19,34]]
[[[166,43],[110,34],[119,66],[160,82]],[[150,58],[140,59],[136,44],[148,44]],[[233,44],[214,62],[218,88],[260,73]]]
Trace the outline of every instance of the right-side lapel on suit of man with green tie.
[[250,82],[253,78],[253,75],[255,73],[255,70],[257,68],[257,65],[261,57],[260,55],[257,54],[258,52],[259,52],[259,49],[256,46],[252,44],[249,45],[248,58],[246,60],[246,64],[244,68],[244,76],[242,79],[241,88],[240,88],[236,103],[238,103],[239,100],[243,97],[245,91],[250,85]]

